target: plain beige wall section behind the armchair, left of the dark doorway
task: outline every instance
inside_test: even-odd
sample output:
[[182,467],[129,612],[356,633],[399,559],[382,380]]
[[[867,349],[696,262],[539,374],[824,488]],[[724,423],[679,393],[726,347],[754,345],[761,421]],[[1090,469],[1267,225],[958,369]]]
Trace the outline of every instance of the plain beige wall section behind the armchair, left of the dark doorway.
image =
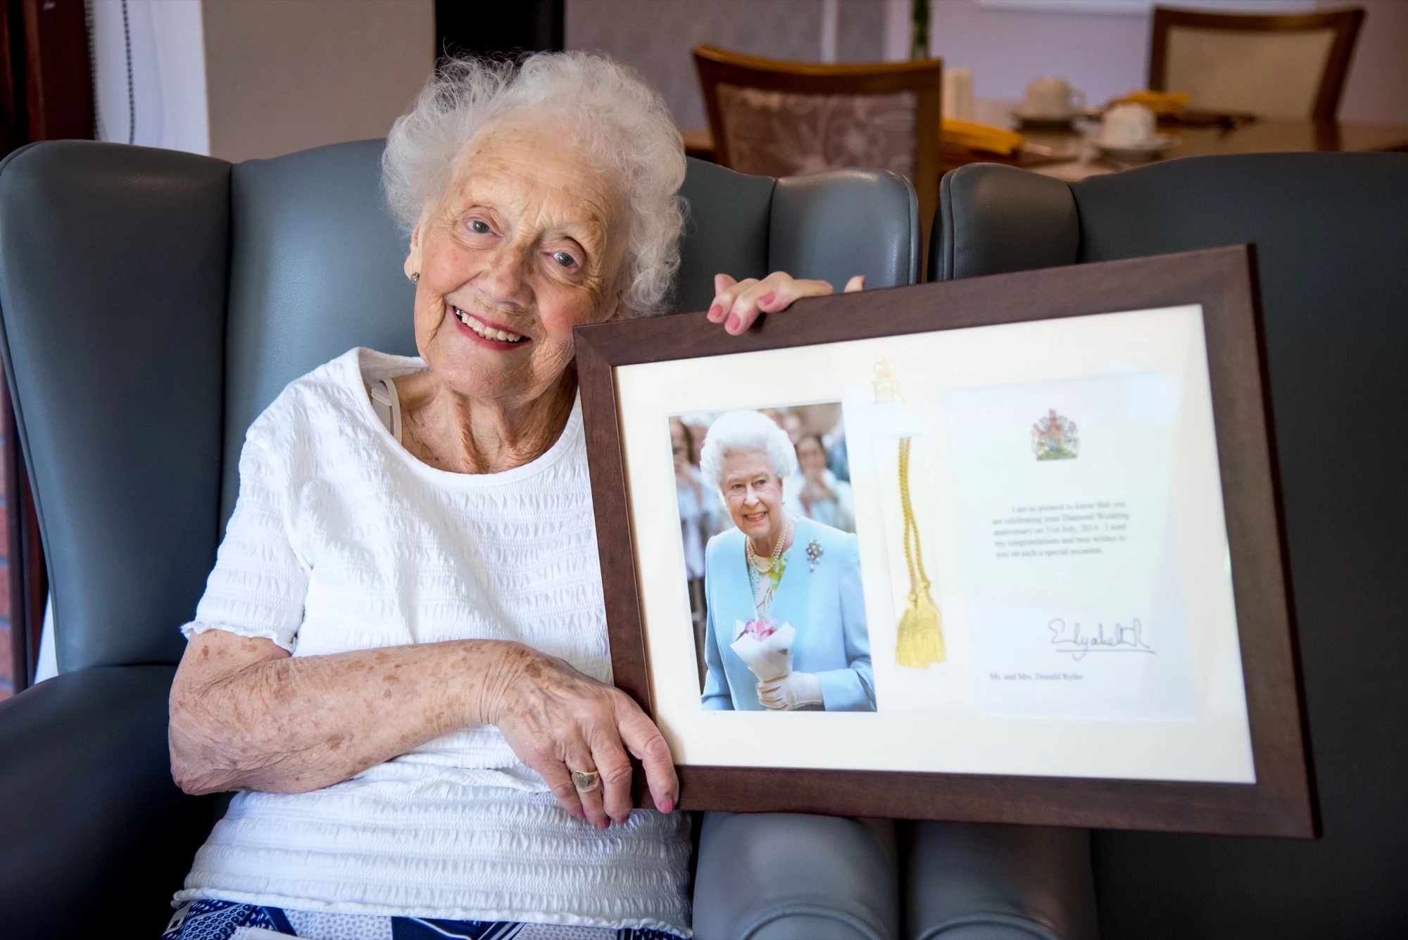
[[210,155],[384,136],[435,65],[434,0],[204,0]]

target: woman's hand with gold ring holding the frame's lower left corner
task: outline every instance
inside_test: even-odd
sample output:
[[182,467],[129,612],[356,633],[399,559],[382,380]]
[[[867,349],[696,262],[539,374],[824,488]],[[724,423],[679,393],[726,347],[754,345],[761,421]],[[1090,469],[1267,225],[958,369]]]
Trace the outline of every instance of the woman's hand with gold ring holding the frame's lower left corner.
[[[645,767],[656,808],[674,809],[680,784],[670,747],[629,695],[529,646],[514,643],[504,657],[498,701],[486,715],[563,809],[597,829],[624,823],[632,808],[628,750]],[[579,791],[574,770],[596,770],[600,778]]]

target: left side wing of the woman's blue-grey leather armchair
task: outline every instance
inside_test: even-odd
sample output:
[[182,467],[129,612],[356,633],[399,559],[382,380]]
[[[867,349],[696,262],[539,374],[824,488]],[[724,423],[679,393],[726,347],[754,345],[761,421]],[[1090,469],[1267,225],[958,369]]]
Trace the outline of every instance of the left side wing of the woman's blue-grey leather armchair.
[[59,667],[172,663],[220,532],[230,163],[58,141],[0,163],[0,324]]

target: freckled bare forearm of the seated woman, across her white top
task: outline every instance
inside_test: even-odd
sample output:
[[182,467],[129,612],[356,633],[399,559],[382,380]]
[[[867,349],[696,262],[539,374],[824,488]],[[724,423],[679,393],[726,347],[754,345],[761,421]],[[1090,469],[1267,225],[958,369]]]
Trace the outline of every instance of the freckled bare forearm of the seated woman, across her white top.
[[518,644],[427,643],[282,657],[172,687],[172,771],[189,792],[304,792],[493,722]]

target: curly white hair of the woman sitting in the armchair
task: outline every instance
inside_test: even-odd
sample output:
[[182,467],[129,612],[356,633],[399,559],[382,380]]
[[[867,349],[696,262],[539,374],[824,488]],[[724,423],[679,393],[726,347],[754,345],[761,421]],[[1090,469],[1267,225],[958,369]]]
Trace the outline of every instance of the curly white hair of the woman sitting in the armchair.
[[391,125],[382,156],[386,197],[406,231],[445,197],[474,138],[504,118],[548,124],[612,180],[627,214],[621,304],[627,317],[660,312],[680,266],[684,144],[665,100],[603,55],[442,62]]

